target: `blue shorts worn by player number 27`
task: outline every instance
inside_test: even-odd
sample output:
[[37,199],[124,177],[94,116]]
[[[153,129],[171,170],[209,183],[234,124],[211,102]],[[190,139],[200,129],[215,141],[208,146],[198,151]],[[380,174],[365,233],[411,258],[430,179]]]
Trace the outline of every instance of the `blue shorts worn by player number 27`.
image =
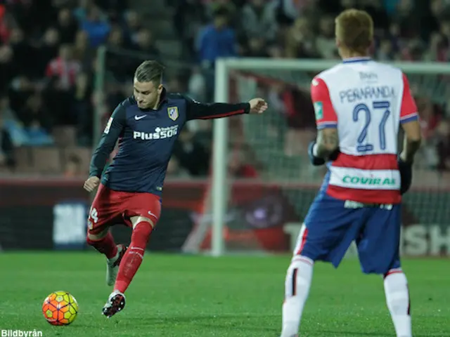
[[338,267],[353,240],[363,272],[400,267],[401,205],[366,206],[319,194],[309,208],[295,255]]

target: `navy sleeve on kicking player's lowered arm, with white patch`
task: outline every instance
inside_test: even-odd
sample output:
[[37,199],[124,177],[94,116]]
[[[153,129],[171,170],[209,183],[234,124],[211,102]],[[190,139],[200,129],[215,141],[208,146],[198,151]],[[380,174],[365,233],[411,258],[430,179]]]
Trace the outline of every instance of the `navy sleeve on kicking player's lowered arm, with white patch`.
[[100,142],[92,154],[91,165],[89,166],[89,177],[100,178],[106,161],[113,152],[117,139],[119,139],[127,120],[125,107],[120,103],[111,115],[108,124],[101,136]]

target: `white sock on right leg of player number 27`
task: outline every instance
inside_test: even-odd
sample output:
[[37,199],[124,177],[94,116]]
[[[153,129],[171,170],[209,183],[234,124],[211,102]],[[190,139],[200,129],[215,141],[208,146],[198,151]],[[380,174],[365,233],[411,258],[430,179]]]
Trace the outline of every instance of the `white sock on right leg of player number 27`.
[[387,308],[391,313],[397,337],[411,337],[408,281],[401,269],[390,270],[385,277]]

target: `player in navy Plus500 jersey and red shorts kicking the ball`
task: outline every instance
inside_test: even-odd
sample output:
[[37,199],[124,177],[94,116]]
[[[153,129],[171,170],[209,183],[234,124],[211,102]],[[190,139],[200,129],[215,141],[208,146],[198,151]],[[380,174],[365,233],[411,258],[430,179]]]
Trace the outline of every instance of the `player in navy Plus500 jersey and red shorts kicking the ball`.
[[[92,159],[84,189],[97,187],[88,219],[87,242],[107,258],[107,283],[114,284],[103,307],[111,317],[125,305],[124,292],[141,265],[150,234],[161,213],[167,164],[181,128],[191,119],[261,114],[261,98],[248,103],[203,104],[162,86],[163,67],[143,62],[134,74],[134,95],[120,103],[108,121]],[[106,159],[119,140],[119,150],[105,173]],[[132,228],[129,248],[116,245],[111,225]]]

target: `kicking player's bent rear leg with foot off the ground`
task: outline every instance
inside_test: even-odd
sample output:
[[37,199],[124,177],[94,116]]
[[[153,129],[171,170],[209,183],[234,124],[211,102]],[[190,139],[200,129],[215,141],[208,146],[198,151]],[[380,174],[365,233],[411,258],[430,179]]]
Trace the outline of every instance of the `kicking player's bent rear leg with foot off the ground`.
[[89,211],[86,242],[106,257],[106,284],[112,286],[117,277],[120,260],[127,247],[114,242],[113,234],[109,230],[112,221],[120,216],[121,209],[115,202],[111,202],[108,187],[100,185],[96,197]]

